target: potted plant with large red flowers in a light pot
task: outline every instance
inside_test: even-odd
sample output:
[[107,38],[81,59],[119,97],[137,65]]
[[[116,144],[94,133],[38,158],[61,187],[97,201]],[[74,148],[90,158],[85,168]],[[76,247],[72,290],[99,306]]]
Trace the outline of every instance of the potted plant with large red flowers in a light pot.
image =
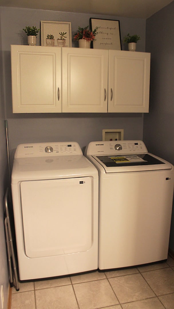
[[88,29],[89,26],[84,28],[79,27],[77,32],[74,33],[74,40],[79,42],[79,47],[90,48],[91,41],[95,41],[95,36],[98,34],[99,27],[95,27],[94,31]]

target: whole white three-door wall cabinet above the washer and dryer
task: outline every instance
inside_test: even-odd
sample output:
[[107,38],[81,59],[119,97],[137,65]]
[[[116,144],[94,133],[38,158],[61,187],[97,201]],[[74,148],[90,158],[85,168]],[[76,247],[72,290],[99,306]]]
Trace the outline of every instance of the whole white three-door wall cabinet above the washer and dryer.
[[14,113],[148,112],[150,54],[11,45]]

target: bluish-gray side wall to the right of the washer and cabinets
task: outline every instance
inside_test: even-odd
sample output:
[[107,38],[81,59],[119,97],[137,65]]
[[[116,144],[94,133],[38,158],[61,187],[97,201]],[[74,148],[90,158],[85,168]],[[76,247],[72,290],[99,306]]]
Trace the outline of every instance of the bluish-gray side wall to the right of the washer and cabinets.
[[[174,164],[174,1],[146,20],[151,53],[150,111],[144,115],[148,150]],[[169,247],[174,251],[174,207]]]

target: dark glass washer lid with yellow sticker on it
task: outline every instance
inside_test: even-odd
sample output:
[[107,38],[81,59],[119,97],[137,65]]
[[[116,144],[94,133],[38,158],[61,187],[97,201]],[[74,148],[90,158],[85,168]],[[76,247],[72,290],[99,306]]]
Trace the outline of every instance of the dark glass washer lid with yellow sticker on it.
[[[172,164],[149,153],[133,155],[93,155],[91,157],[100,163],[106,173],[172,169]],[[99,167],[98,164],[97,166]]]

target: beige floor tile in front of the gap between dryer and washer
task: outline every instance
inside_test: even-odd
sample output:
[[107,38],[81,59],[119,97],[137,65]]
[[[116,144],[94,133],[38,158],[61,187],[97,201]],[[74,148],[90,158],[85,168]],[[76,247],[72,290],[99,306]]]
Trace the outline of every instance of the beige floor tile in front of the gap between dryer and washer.
[[119,302],[107,279],[74,284],[80,309],[117,305]]

